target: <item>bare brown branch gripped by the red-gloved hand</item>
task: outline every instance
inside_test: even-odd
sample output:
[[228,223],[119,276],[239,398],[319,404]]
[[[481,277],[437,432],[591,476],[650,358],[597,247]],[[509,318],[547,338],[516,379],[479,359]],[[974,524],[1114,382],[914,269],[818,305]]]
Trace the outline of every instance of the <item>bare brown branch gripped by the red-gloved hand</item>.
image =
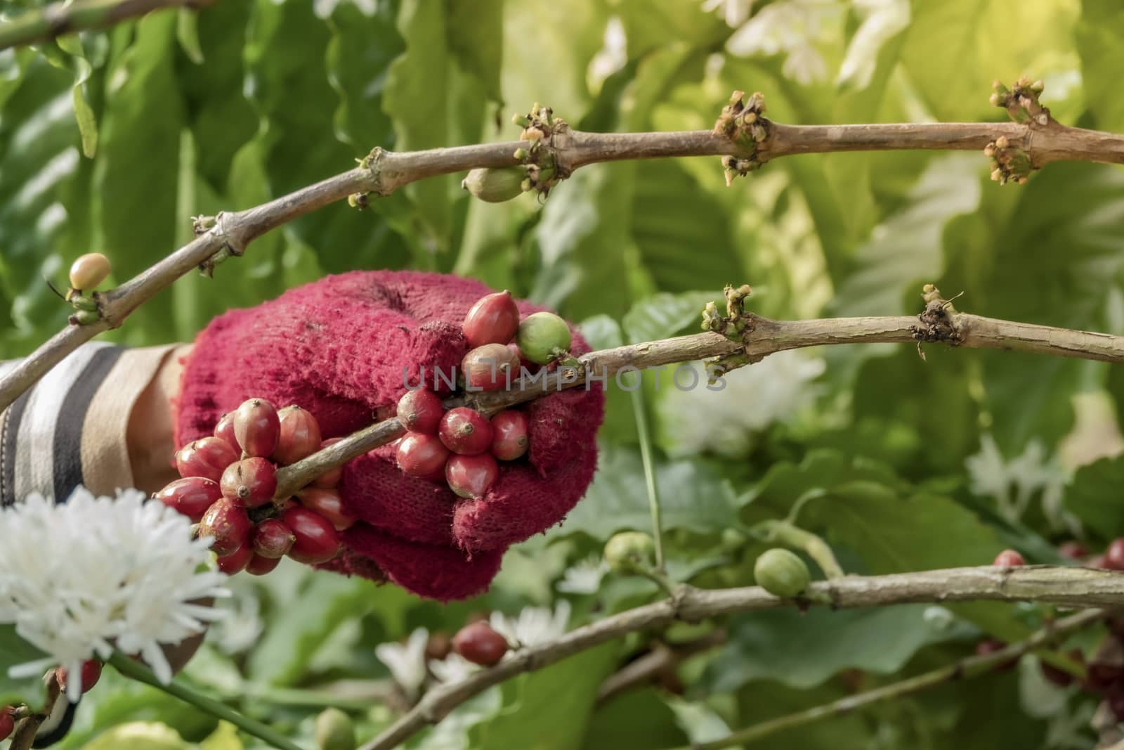
[[[509,390],[452,398],[445,401],[445,406],[470,405],[486,414],[493,414],[565,388],[595,381],[608,383],[628,371],[694,362],[742,351],[751,361],[758,361],[788,349],[828,344],[919,344],[930,341],[969,349],[1004,349],[1124,362],[1124,336],[996,320],[966,313],[950,313],[934,319],[932,308],[930,305],[925,313],[916,317],[816,320],[772,320],[746,314],[749,325],[743,344],[710,332],[626,344],[583,354],[578,358],[579,364],[575,368],[559,368],[555,372],[534,380],[520,379]],[[333,467],[397,440],[405,432],[397,419],[379,422],[307,459],[280,469],[277,497],[283,499],[291,496]]]

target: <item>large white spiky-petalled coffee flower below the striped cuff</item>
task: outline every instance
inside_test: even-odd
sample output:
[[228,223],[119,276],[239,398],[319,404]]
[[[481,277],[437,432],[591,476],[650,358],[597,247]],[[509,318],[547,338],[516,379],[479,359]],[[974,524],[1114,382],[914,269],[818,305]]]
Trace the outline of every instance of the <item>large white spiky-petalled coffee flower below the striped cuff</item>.
[[[201,632],[221,613],[198,599],[226,596],[209,542],[191,522],[144,493],[94,497],[79,487],[55,505],[34,494],[0,510],[0,623],[47,656],[10,668],[27,677],[82,661],[136,653],[162,683],[172,669],[161,645]],[[81,680],[67,686],[72,701]]]

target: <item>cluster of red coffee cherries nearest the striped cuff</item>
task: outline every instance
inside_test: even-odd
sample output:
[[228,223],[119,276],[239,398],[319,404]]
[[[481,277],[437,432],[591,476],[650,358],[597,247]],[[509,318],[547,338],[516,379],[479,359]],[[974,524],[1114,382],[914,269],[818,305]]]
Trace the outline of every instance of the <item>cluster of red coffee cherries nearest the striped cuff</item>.
[[321,440],[320,427],[299,406],[277,409],[251,398],[224,414],[215,435],[188,443],[175,454],[176,479],[155,497],[199,524],[211,540],[219,570],[263,576],[289,555],[327,562],[339,551],[338,532],[355,519],[335,489],[343,470],[320,475],[296,497],[274,501],[278,467],[294,463],[338,439]]

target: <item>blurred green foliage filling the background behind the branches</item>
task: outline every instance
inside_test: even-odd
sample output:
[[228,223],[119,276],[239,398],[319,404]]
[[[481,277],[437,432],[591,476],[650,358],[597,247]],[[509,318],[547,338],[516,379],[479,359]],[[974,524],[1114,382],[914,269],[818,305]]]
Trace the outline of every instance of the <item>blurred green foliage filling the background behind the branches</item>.
[[[1122,40],[1115,0],[223,0],[0,52],[0,358],[26,354],[65,322],[44,278],[63,284],[79,254],[109,255],[119,282],[188,241],[191,216],[275,198],[373,146],[514,138],[510,115],[535,100],[606,132],[707,128],[734,89],[764,92],[769,116],[791,124],[1000,120],[987,102],[991,79],[1025,73],[1044,79],[1044,102],[1063,121],[1124,130]],[[727,189],[717,159],[620,162],[582,169],[545,201],[500,205],[472,201],[459,179],[415,183],[363,213],[341,202],[306,216],[214,280],[181,279],[110,336],[189,341],[226,309],[377,268],[511,289],[583,320],[602,346],[696,329],[704,300],[744,282],[751,309],[774,317],[910,314],[934,282],[963,291],[957,305],[973,313],[1124,333],[1116,168],[1053,164],[1023,188],[999,188],[982,155],[827,154],[770,163]],[[750,526],[789,514],[859,573],[981,564],[1010,545],[1057,562],[1061,541],[1097,550],[1124,531],[1120,369],[933,346],[926,355],[786,353],[715,392],[679,391],[671,370],[662,381],[647,373],[670,572],[751,584],[765,545]],[[379,643],[417,627],[451,633],[479,611],[565,599],[577,626],[652,600],[646,581],[597,567],[611,533],[650,528],[628,394],[610,388],[601,436],[587,499],[514,549],[487,596],[442,606],[284,566],[238,582],[236,616],[184,679],[307,747],[328,705],[368,739],[397,711],[372,697],[390,679]],[[776,612],[637,634],[493,688],[409,747],[682,746],[946,663],[981,632],[1017,638],[1048,614]],[[728,630],[726,645],[654,687],[597,699],[650,639],[715,627]],[[64,748],[257,747],[110,671]],[[1049,686],[1025,672],[754,747],[1093,747],[1094,698],[1055,692],[1042,710]]]

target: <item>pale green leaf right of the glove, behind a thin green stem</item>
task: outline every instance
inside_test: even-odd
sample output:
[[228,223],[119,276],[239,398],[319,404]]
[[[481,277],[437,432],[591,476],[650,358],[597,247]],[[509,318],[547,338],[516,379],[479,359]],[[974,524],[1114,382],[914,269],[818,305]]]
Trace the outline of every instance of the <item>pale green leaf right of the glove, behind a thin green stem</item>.
[[[570,512],[552,537],[582,532],[605,541],[618,531],[651,528],[640,451],[599,446],[597,473],[586,499]],[[655,461],[663,527],[720,533],[736,523],[729,482],[705,461]]]

